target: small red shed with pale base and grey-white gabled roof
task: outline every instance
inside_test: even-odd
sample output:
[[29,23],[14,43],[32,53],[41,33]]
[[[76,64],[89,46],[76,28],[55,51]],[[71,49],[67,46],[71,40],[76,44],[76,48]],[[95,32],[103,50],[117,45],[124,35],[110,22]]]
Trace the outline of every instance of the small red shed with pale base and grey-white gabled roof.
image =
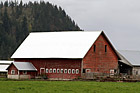
[[30,62],[13,62],[8,68],[8,78],[31,79],[35,78],[37,69]]

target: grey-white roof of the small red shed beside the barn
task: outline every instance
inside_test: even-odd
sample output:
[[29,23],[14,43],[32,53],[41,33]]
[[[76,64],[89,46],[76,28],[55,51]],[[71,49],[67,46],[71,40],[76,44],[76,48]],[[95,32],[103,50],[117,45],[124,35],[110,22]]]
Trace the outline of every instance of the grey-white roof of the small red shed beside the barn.
[[30,62],[13,62],[18,70],[23,71],[37,71],[37,69]]

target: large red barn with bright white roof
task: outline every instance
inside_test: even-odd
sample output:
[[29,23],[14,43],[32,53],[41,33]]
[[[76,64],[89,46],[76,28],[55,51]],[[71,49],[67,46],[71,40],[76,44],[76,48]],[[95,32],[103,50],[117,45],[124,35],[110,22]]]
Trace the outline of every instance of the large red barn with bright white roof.
[[82,73],[115,73],[119,57],[103,31],[78,31],[30,33],[12,58],[31,62],[37,75],[74,79]]

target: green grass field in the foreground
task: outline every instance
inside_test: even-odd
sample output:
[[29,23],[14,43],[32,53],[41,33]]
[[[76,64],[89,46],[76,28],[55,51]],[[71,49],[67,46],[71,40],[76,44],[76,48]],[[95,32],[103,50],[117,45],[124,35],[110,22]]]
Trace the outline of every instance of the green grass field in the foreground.
[[140,83],[1,80],[0,93],[140,93]]

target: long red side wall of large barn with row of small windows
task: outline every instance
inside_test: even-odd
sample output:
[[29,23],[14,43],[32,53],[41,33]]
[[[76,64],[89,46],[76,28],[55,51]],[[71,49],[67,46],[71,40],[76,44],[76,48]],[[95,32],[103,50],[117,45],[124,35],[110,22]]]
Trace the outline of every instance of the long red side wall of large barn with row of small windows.
[[48,78],[74,79],[81,76],[81,59],[15,59],[17,62],[31,62],[40,73],[40,69],[79,69],[79,73],[44,73]]

